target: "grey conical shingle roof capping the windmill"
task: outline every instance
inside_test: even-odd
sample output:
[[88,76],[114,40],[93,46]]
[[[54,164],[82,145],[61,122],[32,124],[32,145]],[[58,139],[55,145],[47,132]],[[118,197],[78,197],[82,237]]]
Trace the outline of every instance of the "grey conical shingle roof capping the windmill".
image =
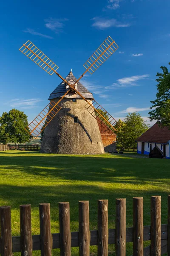
[[[68,81],[70,84],[73,84],[77,81],[75,76],[73,75],[72,71],[66,76],[66,81]],[[86,99],[94,99],[93,94],[87,90],[84,85],[82,85],[80,82],[77,83],[77,90],[79,93],[82,94]],[[66,93],[66,86],[65,82],[62,81],[56,89],[50,94],[48,100],[55,99],[55,98],[61,98]],[[65,98],[81,98],[77,93],[68,93]]]

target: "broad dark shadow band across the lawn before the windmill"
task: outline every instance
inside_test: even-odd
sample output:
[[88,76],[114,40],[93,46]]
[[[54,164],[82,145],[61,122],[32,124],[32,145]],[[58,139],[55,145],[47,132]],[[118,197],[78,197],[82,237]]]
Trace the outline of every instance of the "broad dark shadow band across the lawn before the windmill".
[[[132,157],[63,156],[34,152],[11,153],[12,157],[0,156],[2,169],[17,169],[29,175],[63,180],[89,180],[113,183],[152,185],[166,183],[170,161],[166,159],[142,159]],[[22,154],[20,156],[20,154]],[[25,156],[28,154],[28,156]]]

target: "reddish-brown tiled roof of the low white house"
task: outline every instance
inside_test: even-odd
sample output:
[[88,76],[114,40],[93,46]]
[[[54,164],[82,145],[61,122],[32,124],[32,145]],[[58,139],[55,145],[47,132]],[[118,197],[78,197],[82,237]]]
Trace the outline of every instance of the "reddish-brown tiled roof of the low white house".
[[153,125],[144,132],[136,141],[165,144],[170,140],[168,127],[161,128],[158,124]]

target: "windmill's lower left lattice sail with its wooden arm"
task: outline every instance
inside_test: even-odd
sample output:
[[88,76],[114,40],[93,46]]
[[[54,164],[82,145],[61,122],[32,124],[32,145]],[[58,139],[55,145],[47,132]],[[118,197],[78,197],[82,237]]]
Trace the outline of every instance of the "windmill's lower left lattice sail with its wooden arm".
[[54,116],[56,116],[56,114],[60,111],[61,107],[59,107],[58,104],[69,93],[70,90],[68,90],[57,103],[51,100],[51,102],[27,126],[26,131],[35,139],[42,133],[49,122],[51,122]]

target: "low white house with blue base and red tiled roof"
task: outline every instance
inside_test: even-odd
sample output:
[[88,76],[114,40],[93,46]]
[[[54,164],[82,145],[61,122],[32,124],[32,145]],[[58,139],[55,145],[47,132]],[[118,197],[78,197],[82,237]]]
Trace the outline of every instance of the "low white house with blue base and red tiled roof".
[[137,140],[138,154],[149,154],[157,146],[165,158],[170,159],[170,129],[157,123],[144,132]]

